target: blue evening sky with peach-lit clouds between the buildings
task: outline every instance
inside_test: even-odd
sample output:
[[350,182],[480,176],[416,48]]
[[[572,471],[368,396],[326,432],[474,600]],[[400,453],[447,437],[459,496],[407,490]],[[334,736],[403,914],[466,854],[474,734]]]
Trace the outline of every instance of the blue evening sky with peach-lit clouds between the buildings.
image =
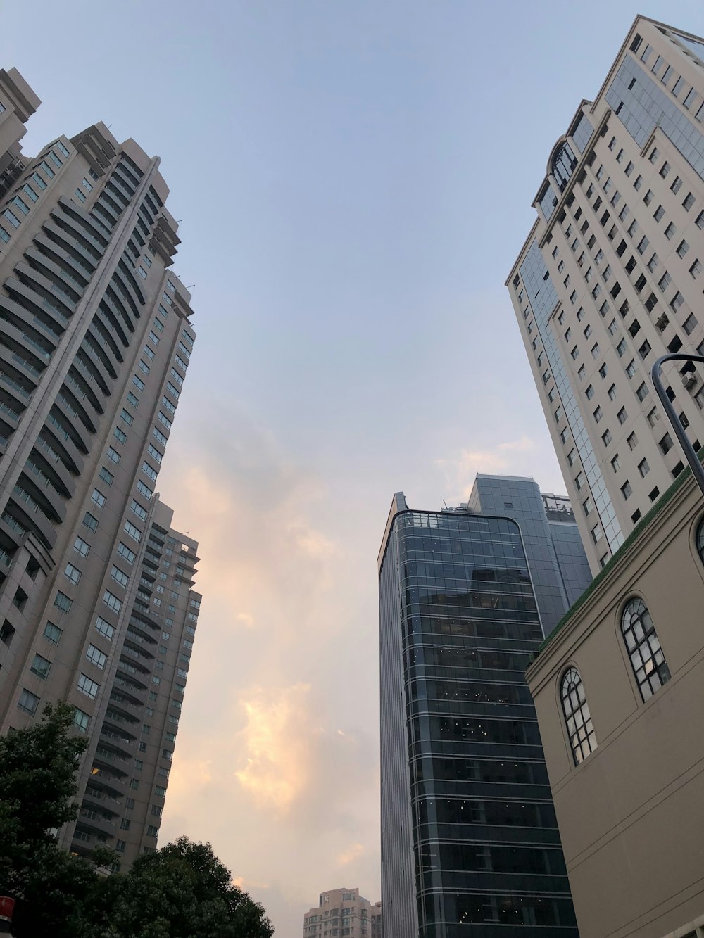
[[637,13],[704,34],[700,0],[0,0],[25,153],[103,120],[162,158],[198,338],[160,488],[204,600],[160,842],[276,938],[380,898],[391,495],[563,491],[504,281]]

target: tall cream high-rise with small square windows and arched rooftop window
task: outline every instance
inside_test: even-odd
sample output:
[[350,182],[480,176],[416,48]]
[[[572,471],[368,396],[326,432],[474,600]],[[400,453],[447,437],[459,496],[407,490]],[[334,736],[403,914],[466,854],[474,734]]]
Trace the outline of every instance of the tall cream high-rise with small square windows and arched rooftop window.
[[[703,122],[704,39],[636,17],[550,152],[507,280],[594,572],[683,468],[650,368],[704,349]],[[664,374],[698,448],[702,369]]]

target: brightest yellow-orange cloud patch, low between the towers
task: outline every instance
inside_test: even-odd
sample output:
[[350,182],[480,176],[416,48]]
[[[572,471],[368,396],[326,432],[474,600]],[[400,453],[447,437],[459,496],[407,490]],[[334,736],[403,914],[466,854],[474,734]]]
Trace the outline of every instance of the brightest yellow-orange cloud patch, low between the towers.
[[[305,727],[310,686],[255,688],[240,702],[247,724],[240,735],[247,764],[235,772],[259,808],[285,813],[308,782],[310,763]],[[302,732],[301,732],[302,730]]]

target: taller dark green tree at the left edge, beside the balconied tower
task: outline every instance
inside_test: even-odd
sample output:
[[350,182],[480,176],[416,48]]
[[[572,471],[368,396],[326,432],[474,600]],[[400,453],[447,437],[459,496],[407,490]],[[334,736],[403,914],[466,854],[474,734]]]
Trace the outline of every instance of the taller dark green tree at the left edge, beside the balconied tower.
[[87,747],[74,708],[48,704],[26,730],[0,737],[0,893],[16,900],[18,938],[84,934],[93,865],[59,850],[52,829],[76,817],[76,769]]

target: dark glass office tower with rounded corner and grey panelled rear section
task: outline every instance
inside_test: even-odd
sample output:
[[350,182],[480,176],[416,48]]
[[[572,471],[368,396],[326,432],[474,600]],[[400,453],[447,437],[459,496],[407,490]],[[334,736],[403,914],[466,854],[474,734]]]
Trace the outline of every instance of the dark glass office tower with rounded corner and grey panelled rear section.
[[569,503],[532,479],[479,477],[444,511],[394,495],[379,552],[388,935],[576,938],[524,672],[541,615],[550,630],[589,580]]

